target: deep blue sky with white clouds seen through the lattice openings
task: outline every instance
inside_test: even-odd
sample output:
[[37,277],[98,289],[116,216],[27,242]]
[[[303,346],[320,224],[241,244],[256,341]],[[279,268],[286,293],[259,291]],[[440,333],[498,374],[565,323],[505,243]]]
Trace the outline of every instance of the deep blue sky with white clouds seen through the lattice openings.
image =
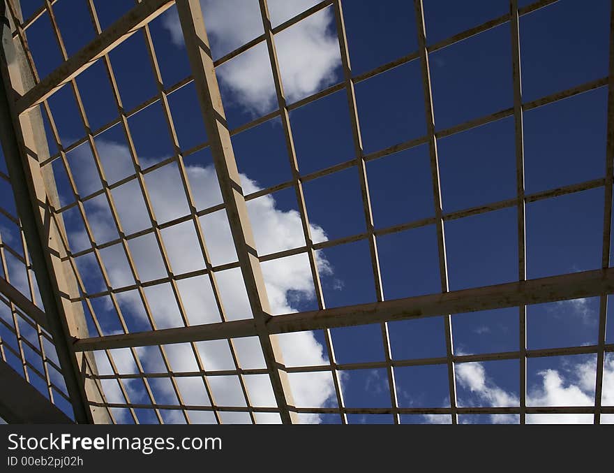
[[[94,3],[103,27],[111,24],[133,5],[130,1],[95,0]],[[241,27],[233,28],[229,12],[234,3],[237,2],[203,1],[205,23],[216,59],[263,31],[257,1],[251,0],[244,0],[237,10],[233,21]],[[301,13],[313,3],[316,2],[269,0],[274,26]],[[382,0],[376,3],[343,3],[354,76],[417,51],[412,2]],[[521,7],[531,3],[519,1]],[[85,5],[82,0],[59,0],[54,5],[54,13],[69,55],[94,36]],[[38,6],[40,1],[22,1],[24,16],[28,17]],[[507,0],[424,0],[427,44],[435,45],[486,20],[500,17],[508,12],[508,8]],[[521,17],[521,78],[525,103],[607,75],[609,9],[610,2],[607,0],[594,0],[590,6],[581,1],[560,0]],[[173,7],[150,24],[153,47],[165,89],[190,75],[176,15]],[[208,18],[211,19],[209,23]],[[67,26],[75,22],[78,27]],[[504,22],[477,36],[429,54],[437,132],[514,105],[510,28],[509,22]],[[27,35],[38,73],[44,77],[62,60],[52,38],[48,16],[45,14],[36,20],[27,30]],[[304,99],[343,80],[335,36],[336,24],[331,8],[325,8],[308,20],[276,35],[276,48],[288,103]],[[293,53],[297,48],[301,48],[301,54]],[[135,34],[121,43],[110,53],[110,61],[124,110],[133,110],[158,94],[142,34]],[[266,48],[261,43],[217,69],[231,131],[276,110],[274,82],[268,61]],[[110,81],[101,61],[77,77],[77,86],[91,130],[100,129],[117,119]],[[419,60],[409,61],[357,82],[355,93],[364,154],[380,152],[425,136],[424,92]],[[168,95],[168,101],[177,129],[179,150],[185,153],[207,143],[194,85],[190,83],[172,92]],[[607,87],[598,87],[524,112],[527,195],[604,177],[606,101]],[[48,103],[63,147],[69,147],[84,138],[84,127],[70,87],[60,89],[50,97]],[[346,163],[356,157],[345,89],[291,110],[290,125],[301,176]],[[128,126],[142,168],[174,156],[174,144],[167,133],[164,111],[159,102],[128,117]],[[58,148],[49,131],[47,122],[50,152],[56,154]],[[105,129],[96,136],[95,141],[107,182],[113,184],[134,174],[126,138],[119,125]],[[233,134],[232,145],[242,174],[244,194],[292,180],[292,169],[279,118]],[[438,139],[444,216],[515,198],[514,146],[514,117],[511,115]],[[102,189],[87,143],[68,152],[67,161],[80,197]],[[205,147],[186,155],[184,163],[193,187],[197,210],[220,204],[209,150]],[[54,169],[61,206],[70,205],[75,201],[75,196],[70,190],[66,169],[59,159],[50,166]],[[366,176],[377,233],[384,298],[440,292],[440,261],[437,254],[428,146],[417,145],[369,160],[366,163]],[[176,164],[170,163],[146,173],[144,180],[151,194],[151,205],[158,223],[188,213],[188,202],[183,195]],[[2,206],[14,214],[10,189],[3,180],[0,183]],[[325,305],[338,307],[376,300],[367,240],[361,238],[333,246],[327,243],[366,231],[358,168],[346,166],[322,177],[308,177],[303,182],[303,189],[313,242],[324,243],[323,249],[317,252],[317,264]],[[122,203],[123,206],[130,203],[129,210],[119,210],[119,220],[126,233],[151,227],[136,180],[129,180],[114,188],[112,196],[119,208]],[[527,203],[527,278],[599,268],[603,208],[603,187]],[[260,255],[306,245],[298,213],[299,203],[293,187],[286,186],[268,196],[250,200],[248,209]],[[96,221],[92,229],[97,242],[117,239],[111,211],[104,198],[86,201],[84,212],[90,221]],[[63,212],[63,218],[73,252],[91,247],[77,208],[72,207]],[[417,228],[398,233],[385,231],[396,225],[418,221],[423,224]],[[230,228],[225,211],[200,217],[200,224],[207,245],[213,248],[212,264],[235,263],[237,256],[229,242]],[[202,256],[194,256],[200,249],[193,228],[188,227],[172,226],[162,233],[170,252],[171,265],[178,274],[205,268]],[[5,235],[15,231],[14,224],[1,215],[0,228],[5,240]],[[445,217],[444,231],[450,290],[518,280],[516,205],[470,217]],[[151,233],[131,239],[128,247],[135,258],[142,281],[165,277],[164,265]],[[134,283],[132,275],[128,274],[126,256],[120,245],[110,247],[101,256],[110,273],[112,286]],[[86,253],[76,261],[86,291],[103,291],[105,283],[92,253]],[[263,263],[262,267],[274,312],[317,309],[306,253]],[[220,297],[227,312],[232,314],[229,317],[250,317],[237,268],[220,270],[218,284]],[[154,287],[155,291],[146,290],[145,296],[158,328],[183,326],[178,310],[173,307],[170,285],[161,283]],[[220,320],[207,277],[200,275],[200,279],[184,279],[179,284],[179,291],[181,297],[187,300],[186,310],[190,323]],[[142,300],[135,291],[122,294],[118,298],[119,306],[129,330],[151,330],[151,323],[144,316]],[[91,305],[103,335],[121,331],[117,312],[108,296],[92,298]],[[85,310],[89,312],[87,307]],[[89,315],[88,319],[90,330],[96,333]],[[451,321],[456,355],[518,351],[520,348],[518,308],[453,314]],[[597,344],[598,326],[598,298],[528,306],[527,348]],[[608,326],[608,343],[614,342],[613,327],[614,323]],[[394,360],[446,356],[442,316],[389,323],[388,330]],[[338,363],[385,361],[382,331],[378,324],[331,330],[331,340]],[[304,344],[306,350],[311,350],[306,360],[297,362],[298,365],[327,363],[329,355],[324,349],[323,333],[297,335],[292,343]],[[300,358],[300,354],[294,353],[290,346],[290,342],[285,345],[285,357]],[[222,348],[212,351],[214,355],[208,355],[211,365],[221,363],[220,350]],[[253,357],[259,348],[253,346],[246,350]],[[190,358],[193,354],[188,352],[181,352],[180,358],[186,363],[182,365],[184,367],[189,365],[186,360],[190,363],[193,360]],[[117,355],[118,358],[120,356]],[[139,356],[140,361],[147,365],[147,361],[156,357],[156,348],[144,349]],[[248,358],[248,355],[244,358]],[[606,363],[611,363],[614,373],[614,359],[606,358]],[[159,366],[152,368],[152,372],[158,369]],[[445,364],[394,368],[398,405],[448,407],[447,369]],[[164,368],[162,370],[165,371]],[[569,402],[584,402],[582,395],[586,398],[591,395],[590,382],[586,382],[586,379],[591,375],[594,379],[594,371],[594,355],[531,358],[527,362],[527,397],[538,405],[556,405],[568,399],[571,399]],[[305,385],[311,381],[300,381],[295,376],[298,380],[298,394],[294,393],[295,398],[317,404],[305,407],[336,407],[330,374],[317,376],[318,381],[313,381],[314,386],[319,388],[317,393],[306,389]],[[328,378],[324,379],[326,376]],[[347,407],[391,406],[385,368],[343,370],[338,376]],[[614,379],[614,374],[612,377]],[[220,381],[216,400],[227,396],[232,398],[232,395],[240,391],[237,388],[238,378],[235,378],[226,379],[225,384]],[[557,379],[560,381],[558,384]],[[260,382],[253,380],[256,381]],[[142,396],[142,381],[130,383],[133,397]],[[154,397],[164,404],[177,403],[177,398],[173,399],[172,388],[163,386],[165,383],[168,383],[168,379],[151,380]],[[258,386],[254,388],[258,393],[266,391],[261,385]],[[496,406],[499,405],[497,403],[517,406],[519,362],[512,359],[459,363],[456,388],[457,402],[461,406]],[[185,388],[186,391],[190,389],[193,388]],[[592,389],[594,391],[594,386]],[[614,392],[609,395],[614,396]],[[266,398],[264,394],[262,397]],[[145,398],[142,400],[147,401]],[[204,416],[203,420],[206,421],[209,418],[205,419],[205,414],[209,415],[195,415]],[[181,420],[172,412],[165,415],[172,421]],[[141,422],[156,421],[153,411],[147,409],[139,412],[137,417]],[[129,420],[127,416],[121,418]],[[237,414],[234,421],[241,419]],[[308,421],[314,419],[313,416],[307,416]],[[545,419],[555,421],[558,418]],[[570,420],[582,419],[576,416]],[[315,420],[334,423],[339,422],[340,417],[327,414]],[[407,423],[446,420],[449,420],[449,416],[438,418],[405,415],[401,419]],[[392,417],[352,414],[348,416],[348,421],[391,423]],[[462,416],[459,421],[481,423],[518,420],[516,416],[484,415]],[[534,421],[540,419],[536,417]]]

